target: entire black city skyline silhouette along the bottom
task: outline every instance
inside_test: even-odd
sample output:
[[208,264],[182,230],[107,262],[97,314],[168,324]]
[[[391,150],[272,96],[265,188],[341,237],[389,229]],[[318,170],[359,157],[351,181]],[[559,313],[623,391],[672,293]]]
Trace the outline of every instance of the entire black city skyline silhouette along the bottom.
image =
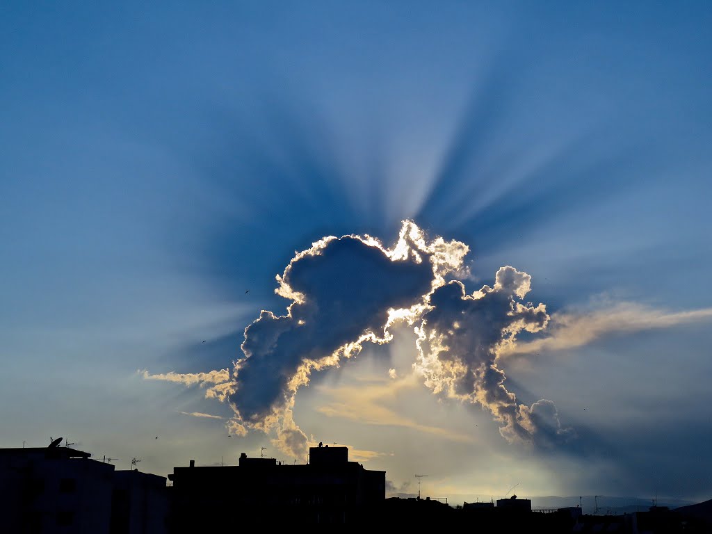
[[[385,471],[349,461],[348,449],[322,443],[308,464],[242,453],[237,465],[177,466],[166,478],[120,471],[90,454],[61,447],[0,449],[0,528],[17,533],[179,534],[229,529],[236,517],[264,528],[471,528],[481,531],[637,534],[709,533],[712,500],[670,508],[533,508],[510,488],[490,502],[450,506],[446,498],[385,496]],[[425,476],[425,475],[420,475]],[[605,503],[604,501],[608,501]]]

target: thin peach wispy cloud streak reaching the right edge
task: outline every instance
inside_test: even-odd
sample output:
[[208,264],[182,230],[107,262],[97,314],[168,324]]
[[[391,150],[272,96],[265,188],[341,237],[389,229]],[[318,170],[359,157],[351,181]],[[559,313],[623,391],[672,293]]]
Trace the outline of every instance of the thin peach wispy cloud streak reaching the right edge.
[[669,312],[636,303],[607,303],[595,310],[555,313],[544,337],[505,347],[506,354],[565,350],[586,345],[612,333],[670,328],[712,319],[712,308]]

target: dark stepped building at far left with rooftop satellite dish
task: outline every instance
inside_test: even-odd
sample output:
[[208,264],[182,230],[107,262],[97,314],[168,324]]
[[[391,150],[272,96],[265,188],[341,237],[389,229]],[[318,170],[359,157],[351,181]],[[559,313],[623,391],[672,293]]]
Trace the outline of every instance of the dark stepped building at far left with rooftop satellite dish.
[[115,471],[90,456],[60,446],[0,449],[0,532],[165,533],[165,477]]

